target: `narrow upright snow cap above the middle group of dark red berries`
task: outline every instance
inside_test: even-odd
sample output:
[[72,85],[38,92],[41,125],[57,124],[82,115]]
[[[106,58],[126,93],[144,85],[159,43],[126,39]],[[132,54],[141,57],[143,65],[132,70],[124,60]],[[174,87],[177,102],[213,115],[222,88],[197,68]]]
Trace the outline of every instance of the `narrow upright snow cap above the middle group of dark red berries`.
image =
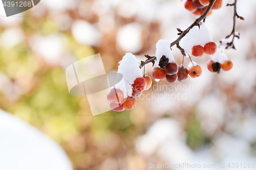
[[175,62],[172,51],[170,50],[170,43],[167,40],[160,39],[156,44],[156,48],[157,65],[159,64],[162,56],[165,56],[167,59],[169,59],[169,62]]

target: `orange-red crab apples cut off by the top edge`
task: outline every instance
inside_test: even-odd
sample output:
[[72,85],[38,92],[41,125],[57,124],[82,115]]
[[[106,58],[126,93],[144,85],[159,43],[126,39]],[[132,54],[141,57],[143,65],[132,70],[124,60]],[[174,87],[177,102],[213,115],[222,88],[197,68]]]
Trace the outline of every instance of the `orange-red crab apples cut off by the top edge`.
[[[209,5],[210,0],[187,0],[185,3],[185,9],[194,13],[195,15],[202,15]],[[223,0],[216,0],[211,7],[208,15],[212,14],[212,10],[218,10],[223,6]]]

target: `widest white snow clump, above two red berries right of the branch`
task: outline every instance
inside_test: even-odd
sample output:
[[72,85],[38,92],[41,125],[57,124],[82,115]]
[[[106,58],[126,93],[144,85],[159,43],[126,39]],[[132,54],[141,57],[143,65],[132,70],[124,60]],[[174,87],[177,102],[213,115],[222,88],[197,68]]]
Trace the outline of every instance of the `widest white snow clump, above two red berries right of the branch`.
[[200,29],[198,26],[191,28],[185,37],[181,39],[180,46],[184,49],[186,54],[191,54],[193,46],[204,46],[206,43],[212,41],[211,33],[205,23],[200,22]]

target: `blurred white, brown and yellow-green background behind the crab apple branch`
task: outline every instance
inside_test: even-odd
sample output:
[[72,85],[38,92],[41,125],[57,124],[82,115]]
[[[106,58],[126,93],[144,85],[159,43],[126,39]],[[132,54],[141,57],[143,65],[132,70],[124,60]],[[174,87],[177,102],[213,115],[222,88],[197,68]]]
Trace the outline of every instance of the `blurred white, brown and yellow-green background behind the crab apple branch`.
[[[173,42],[176,28],[184,30],[197,18],[184,3],[42,0],[20,15],[0,17],[0,108],[57,141],[77,170],[256,163],[254,0],[238,0],[245,20],[237,21],[237,50],[224,52],[234,64],[230,71],[212,74],[206,67],[210,56],[193,57],[203,69],[201,77],[176,82],[173,90],[159,88],[169,85],[166,80],[153,80],[155,89],[143,92],[148,99],[138,99],[131,111],[97,116],[91,115],[86,97],[69,94],[65,69],[73,62],[100,53],[105,71],[111,72],[127,52],[145,60],[143,54],[155,55],[159,39]],[[217,45],[231,33],[232,15],[233,8],[224,5],[207,17]],[[175,46],[173,55],[180,65]],[[151,71],[147,64],[146,75]],[[190,88],[178,88],[185,85]],[[184,99],[166,99],[166,93],[184,94]]]

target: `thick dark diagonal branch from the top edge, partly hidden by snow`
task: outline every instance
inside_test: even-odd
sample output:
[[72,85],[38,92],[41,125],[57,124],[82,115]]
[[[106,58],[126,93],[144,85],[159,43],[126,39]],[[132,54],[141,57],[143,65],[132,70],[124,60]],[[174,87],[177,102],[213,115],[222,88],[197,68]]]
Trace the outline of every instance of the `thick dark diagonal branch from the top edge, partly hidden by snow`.
[[[177,44],[177,47],[180,49],[182,55],[183,55],[183,56],[186,56],[186,55],[184,55],[185,53],[183,53],[183,52],[184,52],[183,48],[181,48],[181,47],[179,46],[180,40],[189,32],[189,30],[190,30],[191,28],[193,28],[194,26],[198,26],[198,25],[199,25],[199,22],[202,21],[203,19],[205,19],[205,18],[207,17],[207,15],[208,15],[208,13],[210,12],[211,7],[214,5],[215,1],[216,1],[216,0],[210,0],[210,3],[209,3],[209,5],[207,6],[207,8],[205,9],[204,13],[203,13],[199,18],[197,18],[197,19],[195,20],[195,22],[193,22],[186,30],[181,31],[180,29],[177,29],[177,30],[179,31],[179,35],[180,35],[180,36],[179,36],[174,42],[170,43],[170,47],[172,47],[172,46],[174,46],[175,44]],[[237,1],[237,0],[236,0],[236,1]],[[144,56],[145,56],[145,55],[144,55]],[[147,55],[147,56],[148,56],[148,55]],[[155,62],[156,59],[157,59],[156,57],[153,57],[153,58],[151,58],[151,59],[147,59],[147,60],[144,61],[144,62],[142,61],[142,62],[141,62],[141,65],[140,65],[140,68],[142,68],[142,67],[143,67],[145,64],[147,64],[147,63]]]

